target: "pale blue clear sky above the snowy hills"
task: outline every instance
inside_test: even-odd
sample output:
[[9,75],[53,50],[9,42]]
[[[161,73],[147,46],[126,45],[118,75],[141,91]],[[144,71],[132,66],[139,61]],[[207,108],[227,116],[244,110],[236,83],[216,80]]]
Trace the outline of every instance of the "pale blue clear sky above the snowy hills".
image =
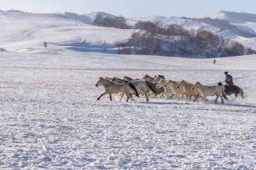
[[0,0],[0,10],[31,13],[91,13],[115,16],[204,16],[216,11],[256,13],[255,0]]

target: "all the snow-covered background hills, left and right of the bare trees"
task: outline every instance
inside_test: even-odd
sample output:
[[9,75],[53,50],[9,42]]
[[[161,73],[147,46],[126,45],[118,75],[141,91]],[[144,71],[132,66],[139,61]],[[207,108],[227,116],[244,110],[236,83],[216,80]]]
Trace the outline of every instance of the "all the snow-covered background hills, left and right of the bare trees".
[[[0,47],[6,50],[41,48],[48,42],[50,48],[68,48],[83,52],[116,53],[117,42],[126,42],[134,29],[120,30],[92,26],[95,16],[114,18],[110,13],[23,13],[0,11]],[[187,30],[208,30],[223,38],[238,40],[256,50],[255,15],[218,11],[199,18],[147,16],[126,18],[129,26],[138,21],[163,25],[178,24]]]

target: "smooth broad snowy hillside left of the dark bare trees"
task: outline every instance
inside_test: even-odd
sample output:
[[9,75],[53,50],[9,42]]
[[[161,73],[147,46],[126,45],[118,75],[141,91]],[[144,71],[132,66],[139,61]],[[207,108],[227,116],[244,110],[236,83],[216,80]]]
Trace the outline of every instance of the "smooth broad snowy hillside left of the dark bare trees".
[[0,11],[0,25],[0,47],[12,51],[42,48],[43,42],[48,42],[50,48],[65,45],[75,50],[103,52],[103,48],[114,48],[117,42],[126,41],[134,32],[92,26],[55,13]]

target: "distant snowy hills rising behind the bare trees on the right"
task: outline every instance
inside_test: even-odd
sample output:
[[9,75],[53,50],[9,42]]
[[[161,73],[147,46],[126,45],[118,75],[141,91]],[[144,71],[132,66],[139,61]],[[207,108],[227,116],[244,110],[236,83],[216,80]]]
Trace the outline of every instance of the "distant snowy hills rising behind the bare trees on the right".
[[[178,24],[186,30],[208,30],[223,38],[238,40],[243,45],[256,49],[256,15],[218,11],[198,18],[149,16],[144,18],[127,18],[130,25],[137,21],[159,22],[164,25]],[[230,36],[230,33],[232,36]]]

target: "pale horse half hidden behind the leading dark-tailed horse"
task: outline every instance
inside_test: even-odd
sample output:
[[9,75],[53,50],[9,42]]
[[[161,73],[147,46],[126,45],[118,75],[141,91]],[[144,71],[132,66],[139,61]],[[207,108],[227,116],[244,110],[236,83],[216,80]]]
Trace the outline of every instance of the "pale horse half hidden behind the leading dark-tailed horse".
[[147,95],[149,91],[153,91],[153,93],[156,94],[156,89],[153,86],[154,84],[146,80],[126,81],[124,79],[113,77],[111,81],[116,84],[122,84],[124,82],[133,84],[140,93],[144,94],[147,102],[149,101],[149,96]]

